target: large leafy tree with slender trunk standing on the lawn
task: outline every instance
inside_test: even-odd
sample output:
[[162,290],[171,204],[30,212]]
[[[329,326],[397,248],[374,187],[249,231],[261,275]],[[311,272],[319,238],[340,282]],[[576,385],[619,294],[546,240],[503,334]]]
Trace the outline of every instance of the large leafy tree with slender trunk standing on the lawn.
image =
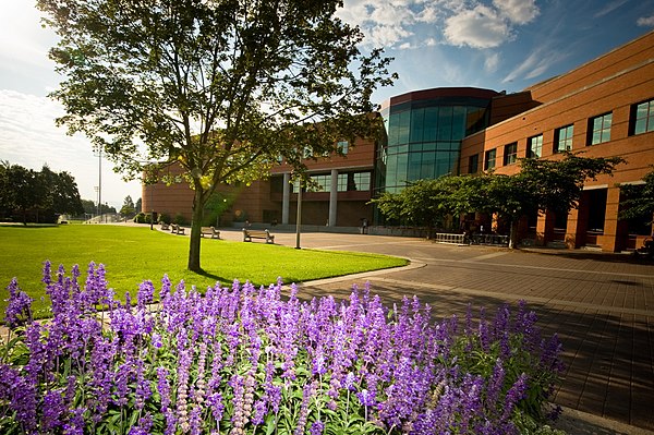
[[218,184],[370,136],[376,120],[362,114],[393,78],[382,50],[362,53],[360,29],[336,17],[339,0],[37,4],[61,37],[50,53],[68,77],[53,93],[66,110],[59,122],[132,177],[144,160],[154,176],[173,162],[185,170],[195,191],[191,270],[201,270],[204,205]]

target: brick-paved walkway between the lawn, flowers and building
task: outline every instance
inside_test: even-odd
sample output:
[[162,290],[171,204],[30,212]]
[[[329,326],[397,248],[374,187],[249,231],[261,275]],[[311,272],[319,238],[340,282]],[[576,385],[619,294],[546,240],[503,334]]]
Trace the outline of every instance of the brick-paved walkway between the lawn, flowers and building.
[[[240,231],[221,237],[242,240]],[[295,234],[275,232],[275,242],[295,246]],[[511,252],[362,234],[304,233],[301,246],[412,261],[405,268],[306,282],[306,297],[344,298],[353,283],[370,281],[385,301],[416,294],[443,317],[463,316],[469,303],[494,313],[525,300],[544,334],[557,333],[564,343],[568,368],[554,401],[567,410],[565,428],[654,434],[654,264],[588,251]]]

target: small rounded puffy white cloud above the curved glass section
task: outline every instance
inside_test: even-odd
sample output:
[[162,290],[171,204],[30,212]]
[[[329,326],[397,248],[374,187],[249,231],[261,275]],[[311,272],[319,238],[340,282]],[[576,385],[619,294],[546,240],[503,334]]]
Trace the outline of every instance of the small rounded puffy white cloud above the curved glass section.
[[445,37],[455,46],[493,48],[510,38],[510,29],[496,10],[477,5],[445,21]]

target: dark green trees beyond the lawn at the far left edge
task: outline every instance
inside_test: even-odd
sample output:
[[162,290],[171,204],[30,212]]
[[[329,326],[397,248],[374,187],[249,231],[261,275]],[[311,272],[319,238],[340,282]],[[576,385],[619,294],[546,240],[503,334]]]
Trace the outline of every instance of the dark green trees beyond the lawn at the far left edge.
[[56,222],[59,215],[84,213],[75,179],[70,173],[39,171],[0,162],[0,217],[23,223]]

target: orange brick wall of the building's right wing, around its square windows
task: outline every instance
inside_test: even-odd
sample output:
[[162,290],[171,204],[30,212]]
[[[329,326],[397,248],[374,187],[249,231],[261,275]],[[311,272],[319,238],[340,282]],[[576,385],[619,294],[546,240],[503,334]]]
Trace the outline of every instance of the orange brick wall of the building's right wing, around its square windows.
[[[540,216],[536,242],[547,244],[561,240],[568,247],[598,246],[611,252],[640,245],[645,234],[629,234],[626,223],[618,220],[620,190],[617,184],[639,182],[654,164],[654,131],[632,132],[634,105],[654,99],[654,33],[522,94],[531,94],[531,101],[522,101],[525,111],[463,140],[461,173],[469,173],[470,156],[479,155],[482,162],[493,149],[496,150],[495,171],[516,173],[517,164],[505,165],[507,145],[517,143],[518,157],[528,157],[530,138],[541,134],[542,158],[560,158],[554,150],[556,131],[573,125],[571,152],[583,152],[586,157],[621,156],[627,162],[620,165],[613,177],[602,176],[586,182],[579,209],[568,216],[565,235],[556,237],[552,216]],[[498,101],[493,102],[492,112],[504,98],[498,97]],[[590,145],[591,120],[604,113],[613,113],[610,140]],[[596,203],[604,197],[603,210],[593,207],[593,200]],[[589,217],[602,212],[605,215],[602,231],[588,228]]]

